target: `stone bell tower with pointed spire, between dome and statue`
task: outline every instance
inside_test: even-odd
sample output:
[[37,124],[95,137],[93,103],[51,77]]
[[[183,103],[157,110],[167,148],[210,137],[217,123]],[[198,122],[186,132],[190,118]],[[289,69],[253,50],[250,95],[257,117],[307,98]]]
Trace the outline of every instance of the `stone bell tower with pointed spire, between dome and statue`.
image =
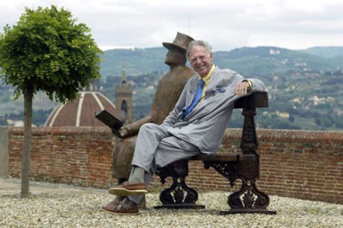
[[121,84],[115,86],[115,116],[124,124],[132,123],[132,84],[126,82],[125,64],[121,73]]

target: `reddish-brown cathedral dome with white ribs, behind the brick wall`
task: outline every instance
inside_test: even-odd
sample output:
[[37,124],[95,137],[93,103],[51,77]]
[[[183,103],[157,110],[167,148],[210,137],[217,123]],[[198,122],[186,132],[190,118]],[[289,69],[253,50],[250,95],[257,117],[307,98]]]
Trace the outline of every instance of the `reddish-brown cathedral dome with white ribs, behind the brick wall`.
[[[79,93],[78,98],[73,102],[59,104],[51,112],[45,127],[86,127],[105,126],[104,123],[95,118],[96,110],[107,110],[115,114],[115,105],[104,94],[98,92],[97,82],[92,81],[88,88]],[[117,116],[118,117],[118,116]]]

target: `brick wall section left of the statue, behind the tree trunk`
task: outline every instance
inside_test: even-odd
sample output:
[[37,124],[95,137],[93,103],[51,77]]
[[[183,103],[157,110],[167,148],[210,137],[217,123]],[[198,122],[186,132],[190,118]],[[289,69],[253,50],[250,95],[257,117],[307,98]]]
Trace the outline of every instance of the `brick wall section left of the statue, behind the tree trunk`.
[[[113,137],[106,127],[32,129],[30,177],[38,181],[108,188],[112,178]],[[21,175],[23,129],[9,130],[9,174]]]

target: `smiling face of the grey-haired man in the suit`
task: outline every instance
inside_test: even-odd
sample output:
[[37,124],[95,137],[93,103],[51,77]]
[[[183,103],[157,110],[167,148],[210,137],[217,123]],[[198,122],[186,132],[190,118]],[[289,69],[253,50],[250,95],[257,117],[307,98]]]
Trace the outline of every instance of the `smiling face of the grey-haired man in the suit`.
[[189,61],[193,70],[204,77],[212,68],[212,55],[202,46],[194,46],[189,51]]

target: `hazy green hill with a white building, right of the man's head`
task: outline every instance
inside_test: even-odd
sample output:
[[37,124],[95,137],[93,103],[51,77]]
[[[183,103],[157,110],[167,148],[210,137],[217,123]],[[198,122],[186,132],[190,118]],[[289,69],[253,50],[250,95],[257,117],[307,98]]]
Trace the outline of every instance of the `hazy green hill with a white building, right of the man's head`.
[[243,75],[262,76],[287,71],[332,71],[343,67],[336,62],[300,51],[278,47],[244,47],[214,53],[220,68],[231,68]]

